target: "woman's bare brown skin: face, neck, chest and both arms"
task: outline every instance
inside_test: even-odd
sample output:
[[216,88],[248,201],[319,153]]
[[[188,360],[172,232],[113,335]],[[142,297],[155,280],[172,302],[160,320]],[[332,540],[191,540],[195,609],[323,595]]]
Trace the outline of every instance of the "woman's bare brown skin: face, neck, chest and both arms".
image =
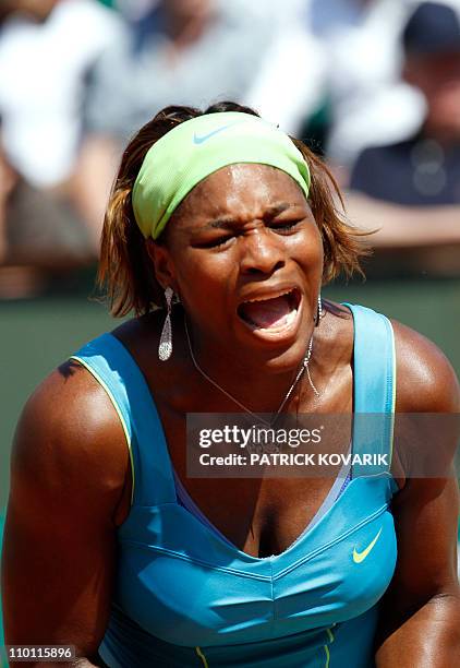
[[[286,409],[351,413],[351,314],[329,303],[314,330],[323,248],[310,206],[286,174],[234,165],[190,193],[165,243],[150,243],[149,252],[161,285],[181,297],[173,355],[167,363],[157,358],[162,313],[133,319],[114,334],[144,372],[173,466],[203,513],[246,553],[279,553],[302,533],[305,513],[308,522],[332,480],[186,478],[185,414],[235,406],[194,369],[182,308],[201,366],[251,410],[277,409],[314,331],[311,372],[322,396],[316,399],[303,378]],[[276,341],[254,335],[238,315],[239,303],[279,286],[301,295],[295,331]],[[458,383],[444,355],[412,330],[394,326],[397,411],[458,411]],[[402,479],[400,486],[394,503],[398,563],[383,601],[376,663],[447,668],[460,661],[457,485],[452,478]],[[109,616],[116,529],[129,514],[130,496],[118,416],[94,378],[65,362],[27,402],[14,441],[2,584],[7,643],[71,643],[86,657],[80,666],[101,665],[97,647]]]

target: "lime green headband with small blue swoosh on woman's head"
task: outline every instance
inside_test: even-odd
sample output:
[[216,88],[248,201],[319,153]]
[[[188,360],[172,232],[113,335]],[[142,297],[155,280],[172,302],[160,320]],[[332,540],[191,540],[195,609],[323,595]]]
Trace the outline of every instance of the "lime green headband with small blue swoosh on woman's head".
[[132,195],[134,215],[144,237],[157,239],[199,181],[235,163],[277,167],[308,195],[308,166],[287,134],[250,114],[198,116],[170,130],[144,158]]

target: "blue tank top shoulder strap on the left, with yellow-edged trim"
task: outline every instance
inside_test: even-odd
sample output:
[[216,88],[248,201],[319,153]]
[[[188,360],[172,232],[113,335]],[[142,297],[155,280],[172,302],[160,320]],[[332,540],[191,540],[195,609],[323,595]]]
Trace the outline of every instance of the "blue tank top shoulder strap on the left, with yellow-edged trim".
[[82,363],[107,392],[130,450],[132,504],[175,502],[172,467],[162,426],[145,378],[123,344],[106,333],[71,359]]

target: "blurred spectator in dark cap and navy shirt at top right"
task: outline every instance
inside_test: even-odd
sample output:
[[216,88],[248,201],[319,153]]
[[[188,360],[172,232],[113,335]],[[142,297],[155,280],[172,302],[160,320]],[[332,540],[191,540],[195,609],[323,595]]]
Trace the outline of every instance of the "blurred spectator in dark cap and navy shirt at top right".
[[[375,2],[377,1],[378,0],[375,0]],[[384,3],[385,0],[382,0],[382,2]],[[433,83],[433,73],[429,72],[431,68],[426,71],[424,67],[420,68],[420,57],[413,53],[413,46],[410,46],[409,41],[413,45],[414,35],[416,35],[416,44],[422,43],[425,45],[426,40],[429,39],[429,43],[436,44],[436,48],[438,48],[440,44],[446,40],[447,34],[443,33],[444,36],[440,39],[437,37],[439,26],[437,26],[437,21],[434,22],[434,16],[432,15],[428,25],[425,23],[423,27],[424,36],[421,39],[420,16],[423,16],[423,12],[426,10],[416,10],[416,8],[425,3],[409,3],[408,1],[407,4],[411,8],[411,12],[408,14],[398,35],[400,38],[402,34],[404,35],[404,45],[408,49],[407,65],[404,68],[407,79],[408,81],[410,79],[411,83],[415,83],[416,80],[422,88],[428,84],[428,81]],[[457,35],[458,9],[460,3],[458,0],[447,0],[439,4],[443,5],[441,15],[444,16],[447,16],[446,8],[456,8],[455,13],[451,12],[451,9],[447,9],[447,12],[449,16],[449,35]],[[422,14],[420,14],[421,11]],[[432,12],[433,9],[429,11]],[[438,10],[436,9],[435,11],[437,12]],[[414,25],[414,19],[410,21],[411,14],[413,14],[415,19],[415,25],[419,26],[414,32],[412,32],[413,28],[410,27],[411,24]],[[439,16],[439,14],[437,15]],[[405,24],[408,25],[407,29],[404,29]],[[453,41],[457,43],[457,37],[453,38]],[[451,45],[452,41],[450,40],[449,44]],[[451,50],[451,46],[449,48]],[[409,56],[410,49],[412,49],[412,51]],[[456,51],[457,47],[453,50]],[[425,46],[424,53],[426,55]],[[364,57],[365,52],[363,52],[363,58]],[[428,55],[428,59],[429,58],[432,57]],[[444,58],[443,56],[443,60]],[[458,56],[455,57],[453,60],[456,60],[456,58],[458,58]],[[448,60],[452,62],[450,56],[448,56]],[[444,71],[440,73],[439,83],[450,80],[452,73],[457,70],[457,65],[449,64],[449,70],[450,73],[446,74]],[[457,76],[458,75],[455,74],[455,79],[457,79]],[[409,83],[407,85],[409,85]],[[458,130],[455,130],[455,126],[458,123],[459,119],[458,108],[460,103],[453,102],[453,99],[458,99],[458,93],[456,93],[457,85],[458,84],[455,82],[452,82],[452,85],[448,84],[445,92],[440,94],[444,87],[443,84],[439,87],[439,97],[436,93],[437,82],[436,86],[429,90],[429,98],[434,95],[440,103],[436,103],[436,109],[433,109],[433,111],[435,111],[433,116],[429,112],[429,104],[424,103],[421,91],[416,92],[422,102],[422,115],[417,127],[413,128],[412,140],[416,141],[421,135],[427,133],[426,136],[429,136],[429,143],[424,145],[424,150],[415,151],[415,154],[410,151],[399,152],[398,146],[402,146],[403,148],[407,146],[407,143],[402,142],[397,144],[392,162],[390,163],[387,148],[382,146],[378,147],[378,142],[375,141],[373,143],[377,145],[377,147],[371,152],[366,152],[367,156],[380,155],[385,156],[385,159],[374,160],[371,167],[366,153],[364,153],[363,157],[366,158],[367,164],[360,160],[355,167],[352,181],[353,186],[364,190],[361,183],[368,179],[368,181],[373,183],[373,190],[371,191],[370,189],[367,191],[368,194],[358,192],[356,190],[348,192],[346,198],[347,214],[361,229],[377,230],[377,234],[368,238],[368,242],[379,251],[376,258],[377,262],[373,260],[370,269],[373,269],[373,271],[377,269],[377,273],[380,275],[388,275],[388,272],[428,272],[437,275],[460,274],[459,200],[450,195],[443,196],[441,199],[438,196],[441,190],[445,191],[446,195],[447,192],[451,193],[456,191],[458,187],[458,183],[457,186],[455,183],[456,174],[459,175],[458,165],[453,169],[450,167],[451,157],[455,155],[458,156],[458,147],[456,146],[458,145],[459,135]],[[447,110],[447,107],[449,107],[449,110]],[[424,121],[424,112],[426,112],[426,109],[428,109],[426,120],[431,118],[428,123]],[[390,107],[387,116],[388,122],[398,123],[399,112],[399,106]],[[437,128],[435,134],[433,130],[433,120],[435,121],[434,126]],[[443,126],[444,128],[441,128]],[[359,129],[356,132],[359,134]],[[410,134],[411,133],[408,132],[405,136],[410,136]],[[379,139],[382,139],[382,134]],[[433,142],[436,142],[438,146],[434,152],[433,147],[435,143]],[[448,152],[446,152],[447,146],[449,146]],[[426,151],[428,151],[428,153],[426,153]],[[401,153],[405,153],[404,158],[401,158]],[[448,165],[446,162],[448,154],[449,171],[451,170],[449,176],[447,176]],[[439,165],[439,156],[443,156],[443,165]],[[416,163],[415,166],[414,163]],[[405,165],[405,181],[401,176],[401,165]],[[385,167],[385,169],[383,167]],[[439,178],[438,171],[440,171],[440,175],[444,172],[444,176]],[[409,177],[408,172],[410,172]],[[414,174],[417,175],[415,184],[413,179]],[[429,183],[429,175],[434,175],[432,183]],[[409,187],[408,179],[412,179]],[[439,186],[443,188],[439,188]],[[380,189],[379,192],[377,192],[377,188]],[[385,200],[377,199],[380,196],[379,193],[383,193],[382,189],[386,189]],[[396,195],[397,192],[400,194]],[[411,193],[415,193],[415,195],[412,196]],[[402,201],[404,204],[401,204]],[[444,204],[441,204],[441,201]],[[431,203],[432,206],[426,206],[426,203]]]

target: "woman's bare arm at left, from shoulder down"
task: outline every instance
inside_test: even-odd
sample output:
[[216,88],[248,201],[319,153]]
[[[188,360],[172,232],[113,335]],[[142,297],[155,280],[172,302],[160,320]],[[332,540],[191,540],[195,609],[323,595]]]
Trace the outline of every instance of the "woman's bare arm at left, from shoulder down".
[[28,401],[13,445],[4,530],[7,644],[70,644],[80,660],[69,666],[101,665],[126,450],[109,398],[76,363],[52,373]]

